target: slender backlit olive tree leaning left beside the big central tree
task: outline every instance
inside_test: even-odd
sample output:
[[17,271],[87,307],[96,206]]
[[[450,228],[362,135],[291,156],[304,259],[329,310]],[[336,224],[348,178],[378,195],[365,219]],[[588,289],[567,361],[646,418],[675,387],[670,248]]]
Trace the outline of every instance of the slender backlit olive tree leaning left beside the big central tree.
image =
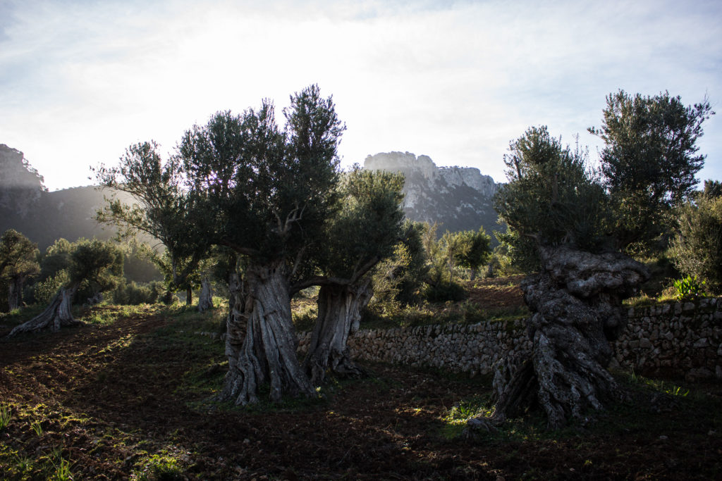
[[[115,225],[121,237],[140,232],[158,239],[165,252],[147,254],[165,275],[168,286],[184,289],[186,304],[191,304],[192,287],[201,283],[199,263],[209,249],[199,235],[207,228],[208,217],[199,210],[198,200],[183,188],[179,159],[172,156],[163,162],[158,148],[154,141],[131,145],[117,166],[96,169],[96,178],[110,189],[110,197],[95,217]],[[118,192],[130,194],[134,203],[123,201]]]

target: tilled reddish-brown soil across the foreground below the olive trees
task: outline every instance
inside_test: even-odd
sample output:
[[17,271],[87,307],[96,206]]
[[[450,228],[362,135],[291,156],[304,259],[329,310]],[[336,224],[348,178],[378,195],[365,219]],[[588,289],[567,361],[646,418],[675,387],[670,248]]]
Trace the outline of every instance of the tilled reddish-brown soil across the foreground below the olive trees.
[[[689,396],[661,402],[638,393],[638,405],[561,433],[531,415],[493,436],[448,439],[448,410],[487,396],[489,379],[373,365],[375,377],[331,385],[326,400],[230,409],[193,389],[220,386],[222,367],[202,373],[222,361],[222,345],[159,334],[180,327],[147,314],[0,342],[0,405],[13,412],[0,431],[0,478],[43,479],[53,449],[76,480],[127,479],[153,454],[178,459],[182,473],[157,479],[722,477],[719,384],[685,385]],[[38,464],[23,477],[20,459]]]

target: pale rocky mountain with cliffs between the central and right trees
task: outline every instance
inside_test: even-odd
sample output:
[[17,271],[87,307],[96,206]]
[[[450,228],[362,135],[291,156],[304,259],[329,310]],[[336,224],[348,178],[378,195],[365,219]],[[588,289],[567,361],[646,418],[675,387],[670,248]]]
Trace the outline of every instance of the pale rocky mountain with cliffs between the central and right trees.
[[430,157],[410,152],[386,152],[367,156],[365,169],[401,172],[404,212],[412,221],[439,224],[439,233],[498,229],[492,197],[500,184],[474,167],[437,167]]

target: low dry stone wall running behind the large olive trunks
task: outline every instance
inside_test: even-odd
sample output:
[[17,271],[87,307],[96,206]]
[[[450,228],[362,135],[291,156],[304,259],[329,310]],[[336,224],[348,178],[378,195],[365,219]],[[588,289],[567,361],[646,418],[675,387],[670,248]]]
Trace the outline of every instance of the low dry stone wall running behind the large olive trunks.
[[[630,308],[615,343],[623,369],[688,379],[722,379],[722,298]],[[305,353],[310,332],[299,334]],[[531,349],[526,319],[474,325],[432,325],[360,330],[349,337],[352,357],[453,372],[489,374],[508,354]]]

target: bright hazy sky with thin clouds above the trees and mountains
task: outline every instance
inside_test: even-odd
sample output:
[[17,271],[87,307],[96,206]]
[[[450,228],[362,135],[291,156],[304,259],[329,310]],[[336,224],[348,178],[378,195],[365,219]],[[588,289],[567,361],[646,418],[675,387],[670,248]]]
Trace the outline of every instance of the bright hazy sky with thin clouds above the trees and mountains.
[[706,96],[697,178],[722,180],[718,0],[0,0],[0,144],[49,190],[309,84],[346,123],[342,165],[409,151],[497,182],[532,125],[597,159],[587,128],[619,89]]

